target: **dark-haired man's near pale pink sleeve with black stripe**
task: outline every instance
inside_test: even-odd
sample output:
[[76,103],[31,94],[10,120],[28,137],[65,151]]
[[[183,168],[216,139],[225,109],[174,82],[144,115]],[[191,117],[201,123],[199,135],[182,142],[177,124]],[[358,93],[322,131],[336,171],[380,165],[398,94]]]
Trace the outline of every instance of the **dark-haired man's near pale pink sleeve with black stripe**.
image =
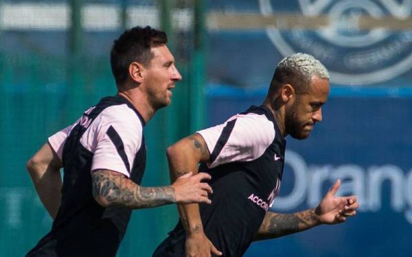
[[84,144],[93,145],[91,171],[108,169],[130,178],[135,155],[141,147],[143,136],[143,127],[133,110],[128,110],[124,106],[107,108],[93,121],[89,133],[97,135],[85,135],[84,139]]

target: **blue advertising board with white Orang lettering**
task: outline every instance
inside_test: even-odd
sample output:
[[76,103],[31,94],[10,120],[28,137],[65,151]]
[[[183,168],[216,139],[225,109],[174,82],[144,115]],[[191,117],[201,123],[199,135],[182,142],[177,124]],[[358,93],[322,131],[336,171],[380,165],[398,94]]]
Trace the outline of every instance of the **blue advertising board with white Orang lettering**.
[[[264,98],[264,90],[225,90],[209,90],[209,125]],[[316,207],[339,178],[338,193],[358,197],[358,215],[253,243],[245,256],[412,255],[412,98],[359,95],[332,88],[310,137],[286,138],[286,167],[272,208],[293,213]]]

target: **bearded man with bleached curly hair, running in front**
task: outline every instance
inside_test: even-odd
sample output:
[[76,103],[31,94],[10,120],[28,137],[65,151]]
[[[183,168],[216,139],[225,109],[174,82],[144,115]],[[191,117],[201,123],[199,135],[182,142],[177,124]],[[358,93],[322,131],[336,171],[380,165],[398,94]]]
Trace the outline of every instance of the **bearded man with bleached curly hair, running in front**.
[[179,223],[153,256],[242,256],[252,241],[356,215],[356,197],[334,196],[339,180],[317,208],[290,215],[269,210],[282,180],[284,138],[308,138],[322,120],[329,90],[328,71],[319,60],[304,53],[288,56],[277,65],[262,106],[169,147],[172,179],[201,163],[199,171],[211,175],[214,194],[209,206],[179,205]]

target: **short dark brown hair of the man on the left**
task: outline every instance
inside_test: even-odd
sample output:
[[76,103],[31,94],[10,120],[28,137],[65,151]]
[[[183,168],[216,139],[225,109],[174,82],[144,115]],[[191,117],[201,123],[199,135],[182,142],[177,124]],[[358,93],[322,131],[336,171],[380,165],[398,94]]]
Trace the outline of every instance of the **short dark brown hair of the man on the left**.
[[128,67],[132,62],[148,65],[153,56],[150,48],[168,42],[165,32],[150,26],[127,29],[114,41],[110,52],[110,64],[117,86],[128,78]]

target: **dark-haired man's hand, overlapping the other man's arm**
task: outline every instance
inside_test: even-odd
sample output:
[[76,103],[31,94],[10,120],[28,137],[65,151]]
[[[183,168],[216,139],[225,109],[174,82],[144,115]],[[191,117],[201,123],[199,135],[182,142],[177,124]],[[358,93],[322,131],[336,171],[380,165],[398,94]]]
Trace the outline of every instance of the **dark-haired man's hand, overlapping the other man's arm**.
[[186,173],[178,178],[173,184],[174,197],[178,204],[205,203],[211,204],[208,193],[213,193],[209,184],[201,182],[210,180],[211,176],[207,173],[192,175]]

